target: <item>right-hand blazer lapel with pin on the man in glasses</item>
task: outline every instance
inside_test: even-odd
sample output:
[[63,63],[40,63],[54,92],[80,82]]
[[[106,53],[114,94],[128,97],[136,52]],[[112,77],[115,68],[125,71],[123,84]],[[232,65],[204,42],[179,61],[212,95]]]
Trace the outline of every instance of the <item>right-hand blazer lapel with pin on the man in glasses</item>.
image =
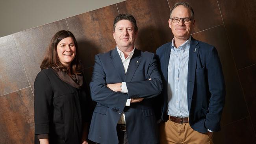
[[191,42],[189,47],[189,61],[188,61],[188,71],[187,71],[187,100],[188,100],[188,109],[190,111],[191,101],[195,86],[195,69],[197,66],[197,55],[199,46],[197,46],[198,41],[193,39],[191,36]]

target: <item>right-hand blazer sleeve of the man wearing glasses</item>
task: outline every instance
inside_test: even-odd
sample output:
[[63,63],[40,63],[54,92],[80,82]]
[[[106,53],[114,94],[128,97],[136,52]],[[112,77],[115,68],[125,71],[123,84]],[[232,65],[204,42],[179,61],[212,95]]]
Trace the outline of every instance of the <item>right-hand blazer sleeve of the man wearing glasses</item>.
[[219,131],[217,127],[219,127],[221,121],[226,92],[221,62],[214,47],[206,57],[206,69],[211,97],[205,126],[211,131]]

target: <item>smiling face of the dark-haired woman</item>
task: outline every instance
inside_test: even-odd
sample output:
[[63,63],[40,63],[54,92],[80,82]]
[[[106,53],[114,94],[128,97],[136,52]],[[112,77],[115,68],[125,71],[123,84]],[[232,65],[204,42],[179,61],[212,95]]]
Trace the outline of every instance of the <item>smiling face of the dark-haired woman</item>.
[[65,66],[70,66],[76,56],[76,46],[73,39],[71,37],[62,39],[57,45],[57,53],[59,61]]

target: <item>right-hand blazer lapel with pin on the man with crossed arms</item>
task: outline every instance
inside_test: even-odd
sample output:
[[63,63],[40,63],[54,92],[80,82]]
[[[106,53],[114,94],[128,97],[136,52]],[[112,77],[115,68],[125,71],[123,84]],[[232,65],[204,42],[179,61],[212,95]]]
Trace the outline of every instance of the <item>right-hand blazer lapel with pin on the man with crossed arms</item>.
[[137,67],[139,66],[140,62],[141,62],[140,50],[137,50],[135,48],[134,54],[132,55],[132,58],[130,60],[130,63],[129,63],[129,66],[128,66],[128,69],[126,72],[125,81],[127,81],[127,82],[132,81],[134,73],[135,73]]

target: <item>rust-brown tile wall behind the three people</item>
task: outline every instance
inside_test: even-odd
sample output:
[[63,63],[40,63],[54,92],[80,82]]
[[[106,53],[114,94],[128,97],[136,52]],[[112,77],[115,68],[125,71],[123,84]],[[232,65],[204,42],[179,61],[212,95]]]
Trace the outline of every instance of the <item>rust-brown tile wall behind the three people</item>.
[[[214,142],[256,141],[256,2],[254,0],[186,0],[195,11],[193,37],[214,45],[226,82],[222,129]],[[78,44],[87,81],[94,55],[115,47],[113,20],[118,13],[134,15],[139,27],[136,47],[155,52],[171,41],[170,9],[178,0],[127,0],[81,15],[0,38],[0,143],[33,143],[33,82],[51,37],[70,30]],[[249,33],[250,32],[250,33]],[[18,133],[17,133],[18,131]],[[17,133],[15,136],[13,133]]]

